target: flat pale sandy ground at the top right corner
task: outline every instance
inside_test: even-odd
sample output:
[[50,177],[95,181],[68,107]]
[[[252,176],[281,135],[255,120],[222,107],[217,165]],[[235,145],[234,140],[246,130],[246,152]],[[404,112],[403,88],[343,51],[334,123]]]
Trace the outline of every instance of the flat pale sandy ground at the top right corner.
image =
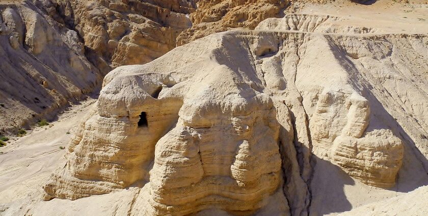
[[[428,1],[413,1],[403,4],[390,0],[373,1],[361,5],[350,1],[336,1],[334,4],[304,4],[293,12],[349,17],[349,26],[365,26],[382,29],[387,34],[428,34]],[[393,21],[392,21],[393,20]]]

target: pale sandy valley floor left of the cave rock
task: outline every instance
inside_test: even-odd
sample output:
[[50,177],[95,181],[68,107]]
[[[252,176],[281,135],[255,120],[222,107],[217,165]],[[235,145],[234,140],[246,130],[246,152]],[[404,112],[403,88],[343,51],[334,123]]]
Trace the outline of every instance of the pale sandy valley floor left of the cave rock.
[[[76,127],[96,99],[89,98],[70,107],[49,126],[27,131],[24,137],[11,137],[0,147],[0,203],[22,199],[37,190],[61,164]],[[69,134],[67,134],[69,132]]]

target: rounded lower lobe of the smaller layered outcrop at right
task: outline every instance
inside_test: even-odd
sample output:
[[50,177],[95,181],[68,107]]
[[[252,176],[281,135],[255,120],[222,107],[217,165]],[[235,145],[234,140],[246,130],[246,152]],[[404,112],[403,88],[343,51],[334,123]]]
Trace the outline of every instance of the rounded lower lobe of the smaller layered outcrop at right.
[[349,175],[370,186],[391,188],[403,162],[403,143],[389,130],[375,130],[362,138],[339,136],[333,160]]

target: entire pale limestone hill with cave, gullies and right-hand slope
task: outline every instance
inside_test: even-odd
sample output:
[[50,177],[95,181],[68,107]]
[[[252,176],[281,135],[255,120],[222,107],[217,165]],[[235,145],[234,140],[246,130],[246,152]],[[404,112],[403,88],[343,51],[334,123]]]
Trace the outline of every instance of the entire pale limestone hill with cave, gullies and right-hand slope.
[[[428,83],[401,71],[426,77],[427,41],[234,30],[116,68],[43,198],[137,187],[130,215],[307,215],[319,164],[342,170],[329,179],[405,183],[427,165],[428,128],[405,116],[424,119]],[[396,99],[410,92],[413,106]]]

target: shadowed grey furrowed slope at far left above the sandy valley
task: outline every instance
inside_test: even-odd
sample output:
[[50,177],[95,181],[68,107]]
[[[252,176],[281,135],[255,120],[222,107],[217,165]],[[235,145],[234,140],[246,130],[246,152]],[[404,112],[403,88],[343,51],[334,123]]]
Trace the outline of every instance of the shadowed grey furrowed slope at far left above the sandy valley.
[[33,2],[0,4],[0,133],[51,118],[81,99],[101,75],[76,32]]

